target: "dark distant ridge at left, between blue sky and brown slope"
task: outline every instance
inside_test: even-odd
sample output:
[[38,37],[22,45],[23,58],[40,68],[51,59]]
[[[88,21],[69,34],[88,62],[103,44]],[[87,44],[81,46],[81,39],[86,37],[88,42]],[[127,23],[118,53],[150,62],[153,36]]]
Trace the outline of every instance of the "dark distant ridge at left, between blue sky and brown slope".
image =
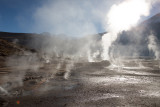
[[47,35],[36,33],[0,32],[0,39],[35,50],[38,50],[38,47],[41,47],[45,39],[49,39],[48,37]]

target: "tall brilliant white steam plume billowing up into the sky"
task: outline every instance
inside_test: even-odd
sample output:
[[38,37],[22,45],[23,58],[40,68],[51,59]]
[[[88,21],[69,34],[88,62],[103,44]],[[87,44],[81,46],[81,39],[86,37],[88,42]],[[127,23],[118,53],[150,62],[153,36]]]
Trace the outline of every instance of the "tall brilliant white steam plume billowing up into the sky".
[[[106,22],[108,31],[102,38],[104,60],[111,60],[109,48],[117,39],[118,33],[130,30],[136,26],[142,16],[150,14],[151,5],[157,0],[124,0],[114,4],[107,14]],[[111,54],[111,53],[110,53]]]

